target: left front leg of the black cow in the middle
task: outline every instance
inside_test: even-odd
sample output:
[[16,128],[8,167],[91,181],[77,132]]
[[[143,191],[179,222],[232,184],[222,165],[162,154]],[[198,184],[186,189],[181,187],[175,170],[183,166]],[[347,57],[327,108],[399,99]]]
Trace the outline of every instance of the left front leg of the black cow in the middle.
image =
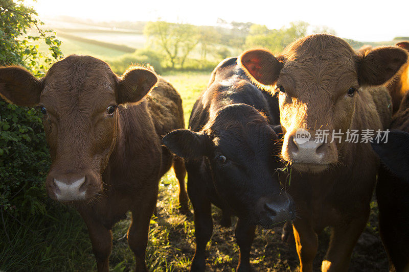
[[213,233],[212,204],[206,196],[206,188],[203,188],[206,181],[202,178],[198,165],[189,166],[188,193],[194,211],[196,237],[196,250],[191,271],[205,271],[206,245]]

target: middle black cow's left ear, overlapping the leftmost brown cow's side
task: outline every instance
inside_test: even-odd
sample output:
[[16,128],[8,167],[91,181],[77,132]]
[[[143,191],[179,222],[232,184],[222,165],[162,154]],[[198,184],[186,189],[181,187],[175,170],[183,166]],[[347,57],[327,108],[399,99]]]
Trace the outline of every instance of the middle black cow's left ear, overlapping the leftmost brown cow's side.
[[198,160],[205,155],[205,137],[201,133],[179,129],[168,133],[162,143],[179,157]]

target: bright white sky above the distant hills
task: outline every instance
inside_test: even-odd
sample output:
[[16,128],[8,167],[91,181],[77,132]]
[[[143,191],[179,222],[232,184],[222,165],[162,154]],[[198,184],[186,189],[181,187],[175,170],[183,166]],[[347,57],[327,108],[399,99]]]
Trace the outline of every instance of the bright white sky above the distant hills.
[[161,18],[215,26],[217,18],[222,18],[228,22],[265,24],[270,29],[302,20],[313,26],[327,26],[339,37],[358,41],[389,41],[396,36],[409,36],[409,0],[27,0],[25,3],[37,10],[40,19],[61,15],[95,21]]

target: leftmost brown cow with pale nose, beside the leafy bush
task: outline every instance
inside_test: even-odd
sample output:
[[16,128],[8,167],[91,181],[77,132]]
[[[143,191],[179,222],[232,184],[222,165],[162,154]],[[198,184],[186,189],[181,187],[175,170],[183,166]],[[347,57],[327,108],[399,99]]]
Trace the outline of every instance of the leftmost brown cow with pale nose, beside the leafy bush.
[[[1,67],[0,94],[41,108],[52,159],[48,194],[81,214],[98,271],[109,270],[111,228],[129,210],[128,243],[136,270],[146,271],[158,181],[173,159],[161,136],[184,128],[176,90],[149,69],[131,67],[119,78],[102,60],[72,55],[40,80],[20,67]],[[184,164],[175,159],[173,167],[187,208]]]

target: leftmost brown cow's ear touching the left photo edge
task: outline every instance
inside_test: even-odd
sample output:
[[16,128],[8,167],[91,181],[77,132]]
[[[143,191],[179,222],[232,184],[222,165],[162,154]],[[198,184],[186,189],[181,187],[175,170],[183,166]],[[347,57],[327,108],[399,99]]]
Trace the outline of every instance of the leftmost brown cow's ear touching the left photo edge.
[[17,66],[0,67],[0,95],[17,106],[40,103],[42,81]]

